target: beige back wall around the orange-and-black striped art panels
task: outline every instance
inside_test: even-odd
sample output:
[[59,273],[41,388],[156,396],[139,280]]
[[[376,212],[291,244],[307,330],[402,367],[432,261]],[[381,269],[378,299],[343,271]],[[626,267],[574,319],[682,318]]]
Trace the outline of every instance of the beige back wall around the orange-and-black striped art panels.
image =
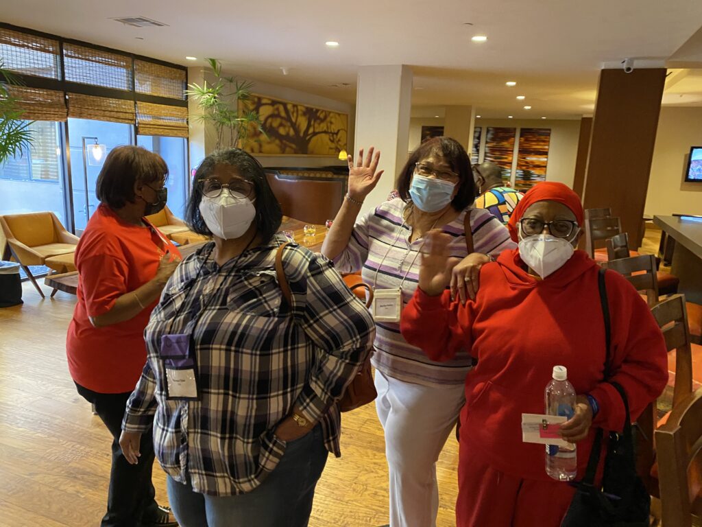
[[[436,117],[413,117],[409,125],[409,147],[411,152],[419,145],[422,126],[443,126],[444,119]],[[475,126],[505,126],[512,128],[550,128],[551,141],[548,148],[548,181],[561,181],[573,186],[575,162],[578,155],[580,119],[475,119]],[[484,133],[484,132],[483,132]]]

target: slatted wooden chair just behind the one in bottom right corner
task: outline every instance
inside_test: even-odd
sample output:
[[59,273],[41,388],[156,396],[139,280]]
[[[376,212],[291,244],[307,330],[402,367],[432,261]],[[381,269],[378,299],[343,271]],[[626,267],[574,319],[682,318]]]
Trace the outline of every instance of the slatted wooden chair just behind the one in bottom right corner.
[[[673,384],[673,410],[692,393],[692,349],[687,327],[685,297],[675,294],[651,309],[658,326],[661,327],[668,350],[668,369],[675,370]],[[670,384],[670,382],[669,382]],[[663,426],[670,413],[661,419],[656,417],[656,401],[647,406],[637,419],[637,473],[646,483],[649,493],[660,497],[658,491],[658,464],[654,430]]]

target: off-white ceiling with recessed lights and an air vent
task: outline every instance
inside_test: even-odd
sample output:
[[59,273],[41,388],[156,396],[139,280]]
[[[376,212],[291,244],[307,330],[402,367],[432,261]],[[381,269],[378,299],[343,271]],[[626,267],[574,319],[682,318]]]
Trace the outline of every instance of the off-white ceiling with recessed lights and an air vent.
[[[126,16],[167,26],[110,20]],[[22,0],[5,1],[0,17],[183,65],[215,57],[239,77],[347,102],[359,65],[411,65],[415,108],[473,104],[483,117],[587,115],[598,71],[623,58],[702,67],[698,0]],[[666,92],[665,104],[702,102],[699,74],[675,86],[683,97]]]

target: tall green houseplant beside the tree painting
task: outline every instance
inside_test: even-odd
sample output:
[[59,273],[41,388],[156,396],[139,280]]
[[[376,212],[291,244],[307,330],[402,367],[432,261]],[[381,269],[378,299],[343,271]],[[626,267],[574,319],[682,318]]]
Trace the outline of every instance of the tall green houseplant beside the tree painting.
[[258,113],[249,108],[253,83],[235,77],[223,77],[222,65],[208,58],[208,74],[214,80],[202,85],[188,84],[185,95],[194,98],[202,111],[199,119],[211,123],[216,132],[216,150],[241,147],[246,143],[249,126],[254,124],[263,134]]

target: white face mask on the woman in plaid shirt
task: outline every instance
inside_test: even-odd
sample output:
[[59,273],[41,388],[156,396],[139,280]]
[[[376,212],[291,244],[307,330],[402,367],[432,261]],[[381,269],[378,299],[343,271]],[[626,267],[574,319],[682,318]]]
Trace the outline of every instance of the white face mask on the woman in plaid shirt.
[[224,240],[246,233],[256,217],[256,208],[249,198],[232,194],[228,188],[223,188],[218,197],[203,196],[199,209],[207,228]]

